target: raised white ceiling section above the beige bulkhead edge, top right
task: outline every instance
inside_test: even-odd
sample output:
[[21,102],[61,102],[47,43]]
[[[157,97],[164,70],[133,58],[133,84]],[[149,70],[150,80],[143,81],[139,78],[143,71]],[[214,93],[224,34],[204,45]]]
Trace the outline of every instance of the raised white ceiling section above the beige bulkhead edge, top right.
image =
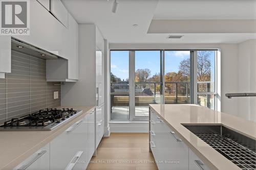
[[153,19],[256,19],[256,1],[159,0]]

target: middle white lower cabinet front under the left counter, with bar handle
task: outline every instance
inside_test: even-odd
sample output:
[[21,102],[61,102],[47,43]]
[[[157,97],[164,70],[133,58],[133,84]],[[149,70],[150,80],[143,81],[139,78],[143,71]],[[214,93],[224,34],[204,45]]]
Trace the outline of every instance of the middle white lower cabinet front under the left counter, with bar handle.
[[87,118],[82,118],[53,139],[50,143],[51,169],[72,169],[80,158],[87,160],[87,139]]

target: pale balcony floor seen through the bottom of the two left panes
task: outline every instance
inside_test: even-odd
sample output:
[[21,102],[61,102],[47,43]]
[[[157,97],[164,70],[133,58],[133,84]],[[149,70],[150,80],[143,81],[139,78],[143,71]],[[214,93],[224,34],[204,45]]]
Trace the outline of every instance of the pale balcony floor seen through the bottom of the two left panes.
[[[135,115],[148,116],[148,106],[135,106]],[[129,106],[113,106],[111,119],[129,119]]]

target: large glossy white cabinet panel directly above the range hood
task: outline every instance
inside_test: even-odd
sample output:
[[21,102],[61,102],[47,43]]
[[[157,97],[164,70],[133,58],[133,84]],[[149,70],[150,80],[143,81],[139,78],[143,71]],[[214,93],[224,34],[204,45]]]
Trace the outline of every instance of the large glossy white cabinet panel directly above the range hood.
[[68,58],[68,30],[37,1],[30,1],[30,35],[13,36],[49,52]]

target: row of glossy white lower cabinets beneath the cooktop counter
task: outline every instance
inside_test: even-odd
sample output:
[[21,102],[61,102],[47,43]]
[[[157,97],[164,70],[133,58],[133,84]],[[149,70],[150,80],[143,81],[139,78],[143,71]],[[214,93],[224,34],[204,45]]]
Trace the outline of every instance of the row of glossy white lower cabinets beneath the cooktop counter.
[[[104,124],[103,121],[101,124]],[[103,131],[101,128],[98,130]],[[86,169],[94,151],[95,109],[14,169]]]

